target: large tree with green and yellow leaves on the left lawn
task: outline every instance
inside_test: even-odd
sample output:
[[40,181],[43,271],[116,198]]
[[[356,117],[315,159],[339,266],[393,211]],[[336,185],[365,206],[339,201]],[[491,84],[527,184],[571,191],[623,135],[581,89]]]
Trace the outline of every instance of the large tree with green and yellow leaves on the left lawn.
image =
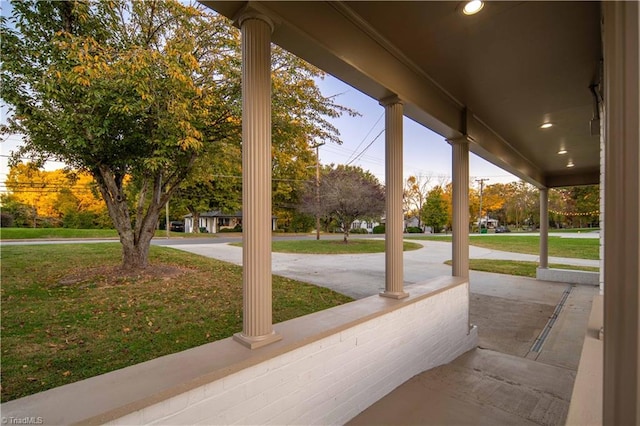
[[[240,149],[238,31],[174,0],[12,6],[1,23],[1,93],[12,107],[3,133],[25,135],[16,157],[56,159],[90,173],[120,235],[124,268],[145,267],[170,197],[222,184],[207,162],[225,144]],[[281,84],[313,85],[294,67],[282,69]],[[340,114],[332,102],[280,109],[291,112],[282,126],[295,127],[291,118],[304,111],[313,118],[299,121],[308,138],[337,138],[321,118]],[[309,150],[311,141],[304,142]]]

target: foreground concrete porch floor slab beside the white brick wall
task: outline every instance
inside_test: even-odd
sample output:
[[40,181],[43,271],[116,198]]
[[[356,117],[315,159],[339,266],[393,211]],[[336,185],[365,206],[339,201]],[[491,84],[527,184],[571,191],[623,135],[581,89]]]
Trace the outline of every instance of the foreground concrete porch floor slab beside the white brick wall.
[[564,424],[575,371],[487,349],[414,376],[350,425]]

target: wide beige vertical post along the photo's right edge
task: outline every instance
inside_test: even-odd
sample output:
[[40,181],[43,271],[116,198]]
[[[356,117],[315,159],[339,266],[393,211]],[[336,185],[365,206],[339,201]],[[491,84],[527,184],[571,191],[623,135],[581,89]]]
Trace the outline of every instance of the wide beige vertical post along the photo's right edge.
[[640,425],[640,7],[603,2],[603,424]]

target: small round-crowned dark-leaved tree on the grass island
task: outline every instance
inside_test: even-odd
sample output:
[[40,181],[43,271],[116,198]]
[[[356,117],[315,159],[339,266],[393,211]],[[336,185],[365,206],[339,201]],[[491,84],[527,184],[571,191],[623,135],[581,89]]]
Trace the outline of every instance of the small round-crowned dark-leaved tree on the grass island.
[[307,183],[301,211],[335,219],[349,241],[349,230],[356,219],[378,219],[384,213],[384,188],[375,176],[360,167],[327,166],[320,178]]

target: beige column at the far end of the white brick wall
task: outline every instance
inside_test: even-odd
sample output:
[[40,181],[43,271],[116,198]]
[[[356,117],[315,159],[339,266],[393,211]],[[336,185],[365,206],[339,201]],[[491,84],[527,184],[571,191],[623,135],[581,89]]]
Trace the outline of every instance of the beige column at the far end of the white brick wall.
[[469,141],[462,137],[447,140],[452,148],[454,277],[469,277]]

